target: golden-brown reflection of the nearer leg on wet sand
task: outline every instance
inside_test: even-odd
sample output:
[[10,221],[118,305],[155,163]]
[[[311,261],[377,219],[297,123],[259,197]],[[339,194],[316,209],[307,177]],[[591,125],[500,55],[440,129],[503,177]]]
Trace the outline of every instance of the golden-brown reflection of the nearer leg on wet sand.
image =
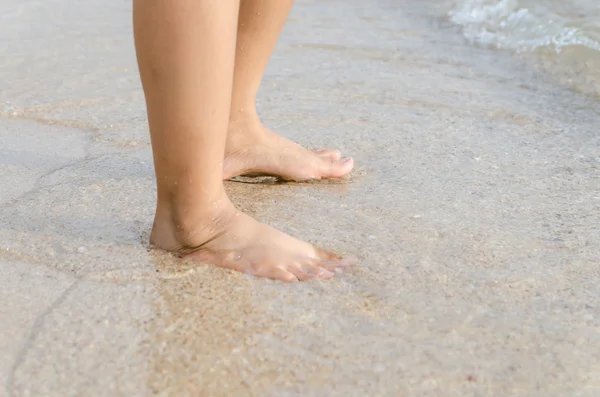
[[157,281],[156,289],[157,316],[147,346],[152,352],[150,390],[231,395],[265,392],[275,383],[277,367],[248,353],[256,338],[269,337],[285,324],[268,315],[268,297],[257,291],[254,280],[204,266],[181,278]]

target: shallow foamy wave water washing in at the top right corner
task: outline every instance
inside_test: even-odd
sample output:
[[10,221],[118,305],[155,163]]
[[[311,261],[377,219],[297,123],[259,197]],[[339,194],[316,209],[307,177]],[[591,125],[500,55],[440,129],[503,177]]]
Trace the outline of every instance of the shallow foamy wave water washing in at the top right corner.
[[471,43],[509,50],[561,84],[600,90],[600,2],[596,0],[447,0],[428,3]]

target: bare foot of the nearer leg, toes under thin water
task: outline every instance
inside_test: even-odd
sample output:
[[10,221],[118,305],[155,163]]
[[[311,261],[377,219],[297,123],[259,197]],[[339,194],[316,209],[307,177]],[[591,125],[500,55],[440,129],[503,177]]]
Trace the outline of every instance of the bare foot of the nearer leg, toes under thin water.
[[[283,281],[328,279],[350,261],[297,240],[236,210],[228,199],[195,227],[157,210],[151,243],[181,257]],[[184,213],[187,213],[184,211]]]

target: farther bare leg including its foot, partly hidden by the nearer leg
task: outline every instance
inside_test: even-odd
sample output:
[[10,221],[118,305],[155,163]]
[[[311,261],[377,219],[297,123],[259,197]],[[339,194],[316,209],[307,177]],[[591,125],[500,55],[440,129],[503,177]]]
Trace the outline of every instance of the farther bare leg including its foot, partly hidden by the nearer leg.
[[352,159],[337,151],[309,151],[265,128],[256,94],[293,0],[241,0],[224,178],[270,174],[307,180],[341,177]]

